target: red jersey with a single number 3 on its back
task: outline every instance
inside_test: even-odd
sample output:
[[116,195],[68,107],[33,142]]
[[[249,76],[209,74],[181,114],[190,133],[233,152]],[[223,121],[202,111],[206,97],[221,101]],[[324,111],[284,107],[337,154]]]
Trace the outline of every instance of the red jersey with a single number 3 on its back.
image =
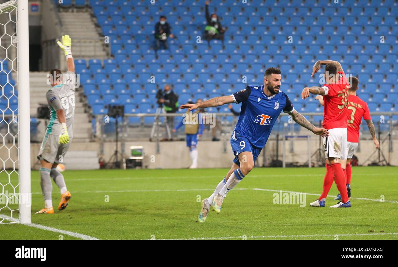
[[347,141],[359,142],[359,126],[361,126],[362,117],[364,120],[371,120],[368,104],[356,95],[348,95]]

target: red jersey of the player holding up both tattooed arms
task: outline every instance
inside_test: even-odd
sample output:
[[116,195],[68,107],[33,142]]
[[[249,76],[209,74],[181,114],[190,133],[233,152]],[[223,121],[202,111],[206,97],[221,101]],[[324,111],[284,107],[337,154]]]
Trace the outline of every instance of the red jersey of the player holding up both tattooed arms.
[[338,82],[324,84],[324,122],[323,128],[347,128],[347,102],[349,83],[344,72],[338,72]]

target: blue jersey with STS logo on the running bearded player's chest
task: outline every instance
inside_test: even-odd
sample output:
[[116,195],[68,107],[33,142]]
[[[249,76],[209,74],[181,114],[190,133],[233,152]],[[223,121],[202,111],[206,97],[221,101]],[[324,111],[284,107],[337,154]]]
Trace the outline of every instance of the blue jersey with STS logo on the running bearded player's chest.
[[232,137],[244,136],[252,146],[263,148],[282,110],[287,113],[294,111],[293,104],[285,93],[268,97],[264,85],[248,86],[232,95],[236,104],[242,103],[238,123]]

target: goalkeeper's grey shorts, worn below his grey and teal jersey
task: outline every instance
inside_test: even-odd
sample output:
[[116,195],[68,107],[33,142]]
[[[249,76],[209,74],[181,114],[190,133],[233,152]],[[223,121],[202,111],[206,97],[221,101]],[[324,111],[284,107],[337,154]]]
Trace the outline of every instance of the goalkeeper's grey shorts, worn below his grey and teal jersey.
[[69,137],[69,143],[59,144],[59,135],[46,133],[41,143],[37,159],[44,159],[50,163],[63,163],[64,156],[68,152],[72,138]]

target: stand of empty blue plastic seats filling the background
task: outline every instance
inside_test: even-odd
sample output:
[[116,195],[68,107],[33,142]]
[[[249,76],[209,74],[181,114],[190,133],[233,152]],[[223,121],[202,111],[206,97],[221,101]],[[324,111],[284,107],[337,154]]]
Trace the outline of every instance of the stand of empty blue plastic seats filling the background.
[[[55,1],[57,2],[57,1]],[[57,2],[58,3],[58,2]],[[366,4],[365,4],[366,3]],[[76,59],[92,113],[106,114],[107,104],[124,104],[126,113],[154,112],[155,94],[170,83],[184,103],[209,99],[262,84],[266,68],[281,68],[285,91],[300,111],[322,111],[300,97],[318,59],[341,62],[359,77],[358,95],[371,111],[397,111],[398,9],[393,0],[220,0],[210,3],[226,27],[220,41],[197,43],[205,27],[204,1],[90,0],[63,1],[60,8],[87,8],[111,56]],[[154,25],[167,16],[175,38],[170,51],[155,56]],[[150,83],[154,75],[156,83]],[[132,124],[143,120],[131,120]]]

